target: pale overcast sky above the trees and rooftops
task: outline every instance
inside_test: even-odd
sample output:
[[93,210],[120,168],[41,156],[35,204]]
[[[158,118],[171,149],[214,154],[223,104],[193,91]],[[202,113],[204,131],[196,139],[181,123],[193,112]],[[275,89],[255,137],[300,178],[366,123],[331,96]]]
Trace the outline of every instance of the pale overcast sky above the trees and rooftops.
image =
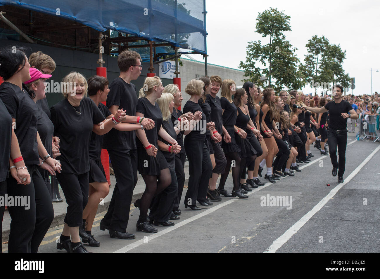
[[[324,35],[346,50],[343,68],[355,77],[353,93],[370,94],[371,68],[379,70],[372,72],[372,86],[373,92],[380,92],[380,1],[206,0],[207,62],[237,68],[245,61],[248,41],[268,43],[269,38],[255,33],[255,25],[258,13],[270,7],[291,17],[291,31],[285,35],[298,48],[301,61],[307,54],[307,40]],[[203,60],[200,55],[194,56]]]

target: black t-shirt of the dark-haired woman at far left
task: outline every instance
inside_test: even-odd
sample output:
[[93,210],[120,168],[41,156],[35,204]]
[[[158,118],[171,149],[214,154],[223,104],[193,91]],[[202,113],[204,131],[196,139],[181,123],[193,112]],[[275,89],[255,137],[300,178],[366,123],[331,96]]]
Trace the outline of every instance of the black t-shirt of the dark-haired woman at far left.
[[37,146],[38,107],[26,92],[9,82],[0,85],[0,98],[11,117],[16,119],[14,132],[22,158],[27,165],[37,165],[40,163]]

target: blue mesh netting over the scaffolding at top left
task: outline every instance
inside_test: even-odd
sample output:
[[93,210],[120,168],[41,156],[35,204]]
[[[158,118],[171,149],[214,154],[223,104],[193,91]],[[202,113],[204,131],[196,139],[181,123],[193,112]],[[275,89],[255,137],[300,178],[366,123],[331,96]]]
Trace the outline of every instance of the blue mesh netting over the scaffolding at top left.
[[61,16],[95,30],[115,30],[206,54],[205,0],[0,0]]

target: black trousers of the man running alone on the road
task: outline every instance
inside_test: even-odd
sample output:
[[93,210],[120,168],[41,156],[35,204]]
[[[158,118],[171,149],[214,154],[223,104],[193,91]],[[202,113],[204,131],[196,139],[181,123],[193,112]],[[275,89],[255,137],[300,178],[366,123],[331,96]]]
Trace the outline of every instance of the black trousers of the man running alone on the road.
[[[329,144],[331,164],[333,167],[338,167],[338,176],[342,177],[346,167],[346,148],[347,148],[347,132],[337,134],[331,130],[327,133]],[[336,156],[336,147],[338,146],[339,162]]]

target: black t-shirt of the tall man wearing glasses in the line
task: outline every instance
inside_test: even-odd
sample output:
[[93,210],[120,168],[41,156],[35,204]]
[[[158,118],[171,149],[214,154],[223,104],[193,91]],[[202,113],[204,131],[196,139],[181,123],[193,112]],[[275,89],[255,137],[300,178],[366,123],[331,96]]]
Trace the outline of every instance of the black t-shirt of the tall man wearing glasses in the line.
[[[127,110],[126,114],[135,116],[137,95],[135,85],[127,84],[121,77],[112,80],[109,84],[106,106],[119,106],[119,109]],[[103,148],[108,150],[136,149],[135,131],[119,131],[111,129],[104,136]]]

